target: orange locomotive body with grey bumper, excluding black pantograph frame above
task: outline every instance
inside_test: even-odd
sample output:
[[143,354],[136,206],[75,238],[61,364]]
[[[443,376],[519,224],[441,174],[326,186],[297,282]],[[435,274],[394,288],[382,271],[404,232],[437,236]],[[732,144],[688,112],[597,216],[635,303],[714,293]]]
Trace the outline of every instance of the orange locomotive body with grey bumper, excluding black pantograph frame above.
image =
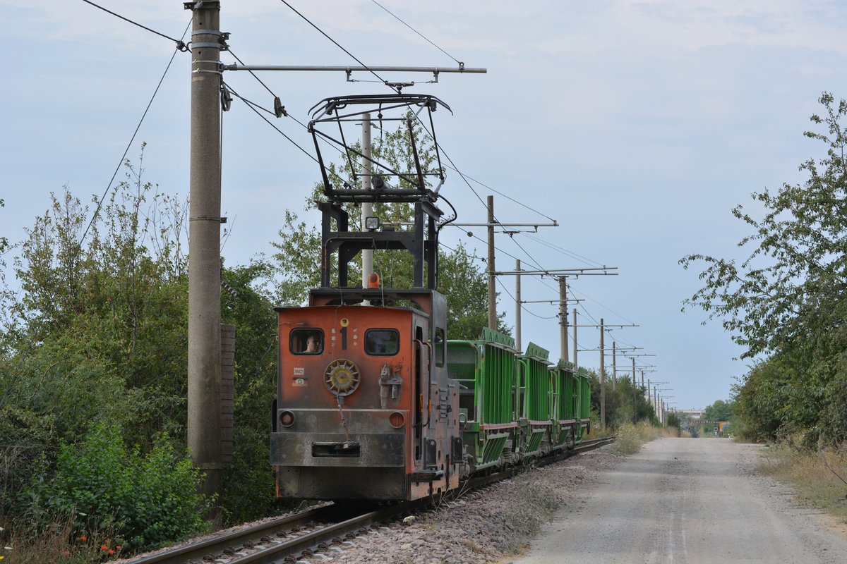
[[318,290],[309,307],[277,309],[271,462],[279,496],[410,500],[457,487],[462,441],[457,383],[445,366],[444,297],[388,297],[423,308],[334,304],[333,293]]

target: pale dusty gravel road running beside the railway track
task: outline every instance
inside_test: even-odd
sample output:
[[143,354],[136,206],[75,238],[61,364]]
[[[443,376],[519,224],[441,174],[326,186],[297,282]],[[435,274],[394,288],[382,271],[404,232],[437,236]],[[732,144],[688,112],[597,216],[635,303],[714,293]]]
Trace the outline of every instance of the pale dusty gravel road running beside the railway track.
[[[647,443],[581,489],[514,564],[847,562],[844,524],[800,509],[756,470],[761,446]],[[836,530],[840,528],[840,531]]]

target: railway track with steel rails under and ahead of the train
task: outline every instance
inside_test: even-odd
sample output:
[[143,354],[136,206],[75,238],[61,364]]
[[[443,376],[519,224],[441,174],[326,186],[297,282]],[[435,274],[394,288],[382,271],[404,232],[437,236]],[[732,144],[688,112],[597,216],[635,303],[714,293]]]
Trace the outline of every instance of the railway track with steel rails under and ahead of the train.
[[[614,437],[601,437],[584,441],[571,452],[562,452],[541,459],[539,466],[556,463],[579,452],[588,452],[609,444]],[[460,488],[463,493],[507,479],[525,468],[509,468],[496,474],[468,480]],[[415,512],[430,504],[422,499],[397,503],[363,512],[355,507],[329,504],[308,509],[249,528],[216,535],[213,538],[166,550],[150,556],[141,556],[130,564],[185,564],[225,562],[226,564],[279,564],[295,562],[314,553],[342,550],[343,545],[369,528],[389,521],[404,513]]]

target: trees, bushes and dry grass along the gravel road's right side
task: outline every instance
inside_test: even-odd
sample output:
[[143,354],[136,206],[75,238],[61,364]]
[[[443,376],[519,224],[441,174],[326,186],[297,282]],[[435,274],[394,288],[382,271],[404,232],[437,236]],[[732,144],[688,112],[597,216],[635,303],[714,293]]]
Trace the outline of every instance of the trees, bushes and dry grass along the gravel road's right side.
[[730,429],[766,442],[763,469],[799,496],[844,517],[847,493],[847,101],[828,92],[805,132],[820,143],[800,163],[804,183],[752,194],[759,213],[733,214],[749,229],[744,258],[687,255],[705,265],[686,300],[722,325],[750,360],[733,389]]

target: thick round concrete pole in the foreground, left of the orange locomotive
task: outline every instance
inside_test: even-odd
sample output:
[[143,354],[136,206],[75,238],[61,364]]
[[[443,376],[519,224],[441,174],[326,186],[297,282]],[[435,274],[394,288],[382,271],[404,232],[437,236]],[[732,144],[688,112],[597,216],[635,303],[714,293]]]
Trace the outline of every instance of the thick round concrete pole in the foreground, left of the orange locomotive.
[[[191,183],[188,261],[188,446],[206,475],[202,493],[223,489],[220,402],[220,3],[186,4],[191,24]],[[219,510],[213,510],[213,522]]]

